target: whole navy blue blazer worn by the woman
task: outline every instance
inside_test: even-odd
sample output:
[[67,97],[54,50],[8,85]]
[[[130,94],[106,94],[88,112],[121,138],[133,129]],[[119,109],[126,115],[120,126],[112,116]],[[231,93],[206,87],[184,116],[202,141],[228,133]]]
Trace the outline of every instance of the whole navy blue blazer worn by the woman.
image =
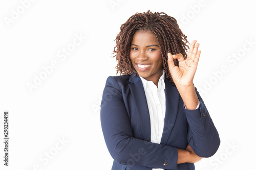
[[200,157],[210,157],[220,145],[219,134],[199,95],[200,106],[184,108],[175,86],[165,78],[166,113],[161,143],[152,143],[150,114],[142,81],[137,75],[106,80],[101,101],[101,127],[114,159],[113,170],[195,169],[194,163],[177,164],[177,148],[187,144]]

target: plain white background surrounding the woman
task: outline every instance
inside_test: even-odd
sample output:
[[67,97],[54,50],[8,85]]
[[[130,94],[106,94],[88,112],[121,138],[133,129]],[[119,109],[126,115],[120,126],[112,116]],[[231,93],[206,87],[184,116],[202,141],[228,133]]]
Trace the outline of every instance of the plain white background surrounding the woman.
[[[100,125],[101,95],[106,78],[116,75],[111,54],[121,24],[147,10],[175,17],[188,41],[200,43],[194,84],[221,145],[196,169],[256,169],[256,12],[250,0],[1,1],[0,169],[111,169]],[[76,36],[86,38],[59,58]],[[57,67],[51,70],[54,61]],[[28,83],[39,75],[45,79],[29,90]],[[3,161],[5,110],[8,167]]]

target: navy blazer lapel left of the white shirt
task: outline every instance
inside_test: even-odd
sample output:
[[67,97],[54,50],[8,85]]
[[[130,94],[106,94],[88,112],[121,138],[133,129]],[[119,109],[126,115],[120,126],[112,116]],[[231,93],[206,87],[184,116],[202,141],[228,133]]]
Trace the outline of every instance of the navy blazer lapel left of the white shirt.
[[129,87],[132,92],[132,96],[135,103],[135,108],[138,114],[139,122],[142,129],[143,139],[151,140],[151,128],[150,128],[150,112],[148,111],[148,106],[146,102],[146,95],[144,91],[143,84],[140,77],[134,77],[133,73],[129,80]]

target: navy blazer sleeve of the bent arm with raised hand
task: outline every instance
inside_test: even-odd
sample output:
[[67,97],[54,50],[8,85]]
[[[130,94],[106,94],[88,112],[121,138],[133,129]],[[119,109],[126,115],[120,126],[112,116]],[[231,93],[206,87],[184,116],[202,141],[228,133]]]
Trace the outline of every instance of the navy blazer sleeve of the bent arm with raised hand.
[[200,157],[211,157],[220,145],[220,137],[209,112],[196,89],[200,106],[195,110],[184,108],[188,122],[188,143],[194,152]]

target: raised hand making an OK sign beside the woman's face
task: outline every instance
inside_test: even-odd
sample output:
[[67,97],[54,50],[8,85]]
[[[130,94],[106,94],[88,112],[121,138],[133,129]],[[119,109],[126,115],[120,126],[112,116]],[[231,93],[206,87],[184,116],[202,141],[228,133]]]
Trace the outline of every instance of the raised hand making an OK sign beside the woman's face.
[[[176,86],[188,87],[191,84],[193,85],[193,79],[201,54],[201,51],[198,51],[199,43],[196,44],[196,42],[196,40],[191,42],[186,60],[184,60],[182,54],[167,54],[169,71]],[[178,59],[179,67],[175,66],[174,59]]]

